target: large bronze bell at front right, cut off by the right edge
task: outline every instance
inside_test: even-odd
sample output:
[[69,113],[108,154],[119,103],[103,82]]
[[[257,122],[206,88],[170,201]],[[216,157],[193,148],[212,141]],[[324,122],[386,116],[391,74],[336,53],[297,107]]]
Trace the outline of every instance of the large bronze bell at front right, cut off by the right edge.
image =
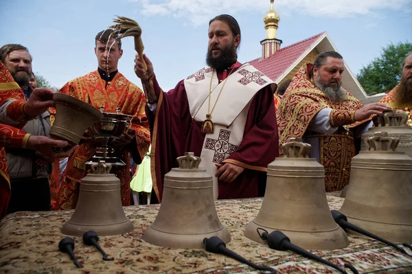
[[412,158],[396,151],[398,138],[375,132],[368,151],[352,158],[340,211],[354,225],[387,240],[412,242]]

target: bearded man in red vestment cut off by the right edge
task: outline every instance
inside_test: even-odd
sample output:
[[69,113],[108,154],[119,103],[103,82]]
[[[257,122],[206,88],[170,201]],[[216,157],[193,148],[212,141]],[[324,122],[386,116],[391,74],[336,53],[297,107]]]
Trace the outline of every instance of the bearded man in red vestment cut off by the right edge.
[[409,114],[407,125],[412,127],[412,52],[407,54],[402,63],[399,84],[383,97],[380,103],[386,103],[393,110],[407,112]]

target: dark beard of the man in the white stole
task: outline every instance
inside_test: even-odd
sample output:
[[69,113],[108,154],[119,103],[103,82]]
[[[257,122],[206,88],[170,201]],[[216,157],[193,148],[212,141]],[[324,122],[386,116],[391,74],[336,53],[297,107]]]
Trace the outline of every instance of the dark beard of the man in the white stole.
[[[211,54],[211,51],[214,49],[220,49],[220,55],[216,58]],[[211,68],[216,69],[216,71],[222,71],[229,68],[229,66],[236,62],[236,60],[238,60],[238,53],[236,53],[236,47],[233,43],[223,49],[218,46],[207,49],[206,64]]]

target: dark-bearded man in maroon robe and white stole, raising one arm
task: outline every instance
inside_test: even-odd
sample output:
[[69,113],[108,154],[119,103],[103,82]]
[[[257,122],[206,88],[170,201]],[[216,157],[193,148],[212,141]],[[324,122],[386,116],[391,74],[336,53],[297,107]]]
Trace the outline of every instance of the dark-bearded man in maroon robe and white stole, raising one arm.
[[[152,63],[136,55],[135,73],[152,118],[153,188],[163,195],[163,176],[185,152],[200,156],[214,181],[214,198],[258,196],[258,177],[277,157],[275,84],[250,64],[238,62],[240,27],[222,14],[209,22],[205,68],[162,92]],[[263,186],[262,186],[263,188]]]

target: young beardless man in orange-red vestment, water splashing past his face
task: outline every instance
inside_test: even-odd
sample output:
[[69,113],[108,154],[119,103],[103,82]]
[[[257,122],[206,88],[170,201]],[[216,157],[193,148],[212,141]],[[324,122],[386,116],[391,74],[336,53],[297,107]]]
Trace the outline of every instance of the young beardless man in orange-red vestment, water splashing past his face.
[[[134,134],[124,136],[116,152],[126,162],[125,166],[113,166],[111,173],[120,179],[122,205],[130,206],[130,171],[129,152],[139,164],[150,146],[149,122],[146,118],[146,98],[140,88],[135,86],[117,71],[117,63],[122,57],[122,42],[112,29],[100,32],[95,38],[95,54],[98,58],[98,70],[71,80],[59,92],[76,97],[104,112],[116,112],[134,116],[131,128]],[[79,183],[87,173],[87,162],[95,153],[93,140],[84,138],[80,147],[71,155],[63,173],[62,184],[58,192],[56,210],[76,208]]]

